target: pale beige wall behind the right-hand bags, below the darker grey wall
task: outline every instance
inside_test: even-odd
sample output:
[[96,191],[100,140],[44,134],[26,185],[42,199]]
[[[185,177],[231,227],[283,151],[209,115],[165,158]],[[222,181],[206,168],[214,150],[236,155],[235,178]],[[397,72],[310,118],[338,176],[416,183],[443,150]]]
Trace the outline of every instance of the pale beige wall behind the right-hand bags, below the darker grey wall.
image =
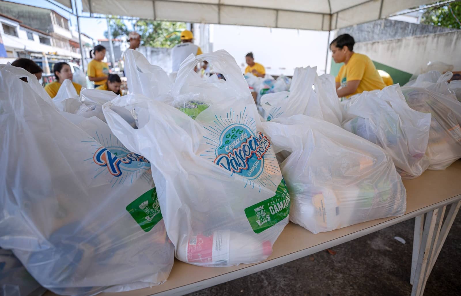
[[[412,36],[402,39],[359,42],[354,51],[366,54],[377,69],[387,71],[395,83],[408,82],[413,73],[430,61],[454,65],[461,71],[461,30]],[[342,64],[331,64],[331,74],[337,75]]]

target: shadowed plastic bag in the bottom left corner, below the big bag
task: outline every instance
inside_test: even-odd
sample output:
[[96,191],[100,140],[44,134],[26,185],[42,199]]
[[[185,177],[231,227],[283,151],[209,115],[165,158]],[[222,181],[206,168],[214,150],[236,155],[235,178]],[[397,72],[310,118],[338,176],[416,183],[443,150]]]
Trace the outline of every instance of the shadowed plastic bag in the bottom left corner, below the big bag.
[[0,249],[0,295],[41,296],[47,289],[32,278],[10,250]]

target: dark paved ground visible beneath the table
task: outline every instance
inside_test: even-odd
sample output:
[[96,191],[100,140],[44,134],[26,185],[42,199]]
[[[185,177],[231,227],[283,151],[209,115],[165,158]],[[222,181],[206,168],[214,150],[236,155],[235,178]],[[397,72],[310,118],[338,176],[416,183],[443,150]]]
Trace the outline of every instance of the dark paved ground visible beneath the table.
[[[413,227],[410,219],[334,247],[335,255],[322,251],[189,296],[409,296]],[[460,255],[461,213],[428,279],[425,296],[461,295]]]

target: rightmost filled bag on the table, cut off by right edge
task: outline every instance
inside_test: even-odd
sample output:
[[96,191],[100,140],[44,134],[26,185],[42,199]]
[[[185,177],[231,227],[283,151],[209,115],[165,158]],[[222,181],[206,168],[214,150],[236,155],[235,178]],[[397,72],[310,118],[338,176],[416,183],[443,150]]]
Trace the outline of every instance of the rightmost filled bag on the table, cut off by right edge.
[[444,170],[461,158],[461,103],[447,95],[418,87],[403,87],[408,106],[431,113],[426,157],[429,170]]

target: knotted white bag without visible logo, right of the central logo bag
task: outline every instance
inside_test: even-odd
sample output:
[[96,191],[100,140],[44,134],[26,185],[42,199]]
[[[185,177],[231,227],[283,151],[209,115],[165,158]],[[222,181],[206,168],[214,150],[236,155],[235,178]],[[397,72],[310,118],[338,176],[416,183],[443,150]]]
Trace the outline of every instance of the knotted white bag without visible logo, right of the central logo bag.
[[291,196],[290,221],[318,233],[390,216],[406,209],[394,163],[377,145],[305,115],[262,123]]

